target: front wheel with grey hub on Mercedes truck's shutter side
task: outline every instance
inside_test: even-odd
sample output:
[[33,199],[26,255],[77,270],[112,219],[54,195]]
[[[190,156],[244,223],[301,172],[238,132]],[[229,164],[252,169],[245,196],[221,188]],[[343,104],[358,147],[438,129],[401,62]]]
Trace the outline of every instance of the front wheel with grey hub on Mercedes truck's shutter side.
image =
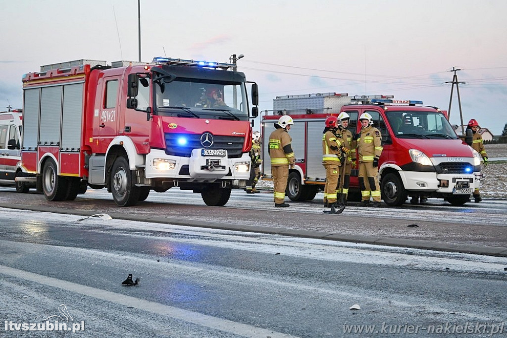
[[119,207],[130,207],[139,200],[139,188],[132,182],[132,171],[124,157],[115,160],[110,184],[113,199]]

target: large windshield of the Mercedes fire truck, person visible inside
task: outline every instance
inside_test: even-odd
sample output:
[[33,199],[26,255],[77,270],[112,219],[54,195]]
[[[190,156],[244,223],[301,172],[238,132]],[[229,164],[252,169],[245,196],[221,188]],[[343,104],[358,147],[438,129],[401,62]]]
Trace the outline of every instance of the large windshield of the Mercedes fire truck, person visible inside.
[[240,82],[176,78],[154,86],[157,115],[248,121],[245,87]]

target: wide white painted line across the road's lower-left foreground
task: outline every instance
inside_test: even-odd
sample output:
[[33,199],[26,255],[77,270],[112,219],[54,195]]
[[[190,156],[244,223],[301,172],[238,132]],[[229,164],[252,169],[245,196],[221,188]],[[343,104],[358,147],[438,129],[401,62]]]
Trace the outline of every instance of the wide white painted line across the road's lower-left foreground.
[[71,292],[80,293],[86,296],[102,299],[103,301],[121,304],[127,307],[156,313],[163,316],[169,316],[174,319],[183,320],[193,324],[205,326],[211,329],[221,330],[245,337],[271,336],[275,337],[294,337],[289,334],[274,332],[269,329],[263,329],[248,324],[242,324],[227,319],[203,315],[201,313],[178,309],[175,307],[163,305],[156,302],[146,301],[144,299],[127,296],[111,291],[101,290],[81,284],[63,281],[60,279],[47,277],[31,272],[13,269],[0,265],[0,273],[10,275],[16,278],[22,278],[35,283],[57,287]]

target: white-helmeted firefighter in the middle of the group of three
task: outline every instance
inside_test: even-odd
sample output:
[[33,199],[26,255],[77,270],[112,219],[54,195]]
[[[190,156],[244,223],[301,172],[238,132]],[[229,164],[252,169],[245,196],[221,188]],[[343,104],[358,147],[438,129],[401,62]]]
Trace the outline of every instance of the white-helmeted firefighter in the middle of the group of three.
[[340,142],[342,143],[342,151],[345,154],[345,168],[343,170],[343,175],[338,178],[338,191],[337,193],[340,196],[340,200],[338,201],[340,204],[347,204],[347,195],[348,195],[348,187],[350,183],[350,172],[352,171],[352,161],[355,161],[355,141],[352,137],[352,132],[347,129],[348,123],[350,121],[350,116],[342,111],[340,115],[338,115],[339,126],[336,132],[336,135],[340,137]]

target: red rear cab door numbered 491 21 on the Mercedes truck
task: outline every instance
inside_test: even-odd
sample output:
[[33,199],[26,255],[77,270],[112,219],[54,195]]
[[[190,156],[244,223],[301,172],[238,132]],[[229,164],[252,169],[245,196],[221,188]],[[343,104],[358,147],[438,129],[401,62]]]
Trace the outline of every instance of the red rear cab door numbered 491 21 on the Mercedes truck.
[[118,136],[119,125],[119,93],[121,76],[104,77],[99,79],[95,100],[93,129],[97,153],[105,153],[107,146]]

